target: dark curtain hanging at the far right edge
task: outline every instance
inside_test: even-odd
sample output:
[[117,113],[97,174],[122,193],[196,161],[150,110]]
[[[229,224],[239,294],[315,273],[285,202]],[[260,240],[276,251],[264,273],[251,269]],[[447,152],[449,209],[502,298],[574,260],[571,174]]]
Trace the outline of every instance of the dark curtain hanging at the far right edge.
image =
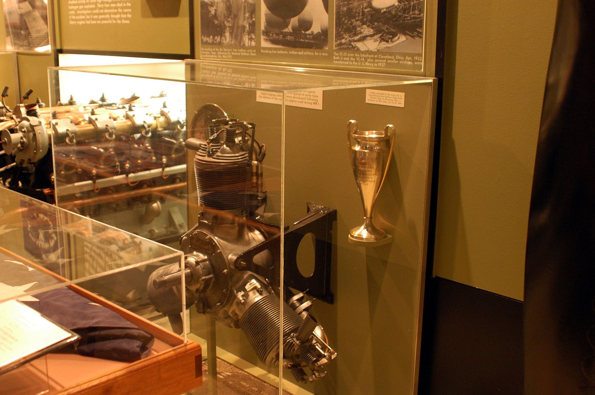
[[559,0],[527,237],[527,395],[595,394],[594,43],[595,1]]

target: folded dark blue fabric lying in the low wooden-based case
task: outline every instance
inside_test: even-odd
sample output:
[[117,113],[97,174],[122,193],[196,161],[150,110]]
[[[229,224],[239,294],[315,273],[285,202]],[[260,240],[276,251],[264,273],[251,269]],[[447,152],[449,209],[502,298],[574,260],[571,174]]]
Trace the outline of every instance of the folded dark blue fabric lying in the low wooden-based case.
[[23,303],[79,334],[76,350],[82,355],[132,362],[151,352],[152,334],[70,289],[38,293],[35,298],[39,301]]

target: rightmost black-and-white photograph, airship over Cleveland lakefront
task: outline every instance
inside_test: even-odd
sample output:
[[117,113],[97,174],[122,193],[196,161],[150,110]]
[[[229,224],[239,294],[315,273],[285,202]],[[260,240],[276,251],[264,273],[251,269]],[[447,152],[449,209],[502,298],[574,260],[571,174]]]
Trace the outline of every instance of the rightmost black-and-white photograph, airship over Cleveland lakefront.
[[337,0],[335,49],[421,53],[425,0]]

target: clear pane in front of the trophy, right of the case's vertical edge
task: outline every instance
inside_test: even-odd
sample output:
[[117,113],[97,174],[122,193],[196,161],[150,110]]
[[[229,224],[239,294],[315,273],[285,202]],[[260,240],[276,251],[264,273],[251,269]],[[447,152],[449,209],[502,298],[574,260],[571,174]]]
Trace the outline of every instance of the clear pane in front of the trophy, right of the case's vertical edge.
[[[328,372],[300,388],[415,393],[433,89],[428,80],[350,86],[324,91],[320,108],[285,108],[284,222],[293,225],[285,236],[284,284],[293,293],[308,289],[298,299],[300,315],[320,324],[301,342],[292,338],[294,352],[309,362],[305,375],[293,376],[309,381]],[[306,202],[316,225],[302,226]],[[321,277],[325,265],[330,279]],[[333,350],[335,360],[321,364]]]

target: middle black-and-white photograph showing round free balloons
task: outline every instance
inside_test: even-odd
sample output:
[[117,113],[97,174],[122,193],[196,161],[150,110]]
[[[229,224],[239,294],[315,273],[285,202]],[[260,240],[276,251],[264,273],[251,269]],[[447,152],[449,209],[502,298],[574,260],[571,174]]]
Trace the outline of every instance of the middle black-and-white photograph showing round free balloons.
[[264,47],[328,48],[328,0],[262,0]]

